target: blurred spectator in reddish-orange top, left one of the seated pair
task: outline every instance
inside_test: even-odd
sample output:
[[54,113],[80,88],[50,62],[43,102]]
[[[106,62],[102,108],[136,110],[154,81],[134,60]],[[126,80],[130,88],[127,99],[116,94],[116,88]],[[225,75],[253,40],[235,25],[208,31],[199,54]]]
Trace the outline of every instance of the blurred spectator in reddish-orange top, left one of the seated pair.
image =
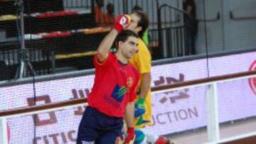
[[96,4],[97,6],[95,6],[95,20],[97,24],[102,24],[104,23],[104,16],[102,11],[102,7],[104,6],[104,1],[96,0]]

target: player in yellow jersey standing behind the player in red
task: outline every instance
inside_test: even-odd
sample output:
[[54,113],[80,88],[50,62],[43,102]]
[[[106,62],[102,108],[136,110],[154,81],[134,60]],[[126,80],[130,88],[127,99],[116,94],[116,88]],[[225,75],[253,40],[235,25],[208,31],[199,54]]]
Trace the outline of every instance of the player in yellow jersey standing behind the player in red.
[[149,18],[142,11],[133,11],[131,16],[131,24],[127,29],[134,31],[139,35],[138,50],[129,62],[134,65],[140,73],[139,92],[137,94],[137,102],[135,104],[135,128],[144,128],[151,125],[151,54],[146,44],[142,40],[144,32],[149,26]]

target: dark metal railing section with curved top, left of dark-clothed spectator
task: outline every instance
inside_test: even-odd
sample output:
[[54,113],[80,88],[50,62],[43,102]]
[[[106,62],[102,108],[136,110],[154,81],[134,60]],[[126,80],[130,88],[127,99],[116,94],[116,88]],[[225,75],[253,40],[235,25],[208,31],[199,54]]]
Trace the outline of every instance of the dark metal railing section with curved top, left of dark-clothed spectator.
[[159,48],[163,57],[188,55],[188,31],[183,22],[186,12],[168,4],[158,5]]

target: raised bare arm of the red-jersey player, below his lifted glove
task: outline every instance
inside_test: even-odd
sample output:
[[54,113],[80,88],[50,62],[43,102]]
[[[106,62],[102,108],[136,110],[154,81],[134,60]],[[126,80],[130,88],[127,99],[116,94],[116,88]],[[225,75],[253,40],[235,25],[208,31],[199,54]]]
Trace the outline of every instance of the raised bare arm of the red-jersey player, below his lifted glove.
[[97,57],[100,62],[107,58],[108,52],[110,51],[110,48],[112,47],[117,34],[117,30],[112,29],[112,31],[110,31],[110,33],[108,33],[100,43],[99,48],[97,48]]

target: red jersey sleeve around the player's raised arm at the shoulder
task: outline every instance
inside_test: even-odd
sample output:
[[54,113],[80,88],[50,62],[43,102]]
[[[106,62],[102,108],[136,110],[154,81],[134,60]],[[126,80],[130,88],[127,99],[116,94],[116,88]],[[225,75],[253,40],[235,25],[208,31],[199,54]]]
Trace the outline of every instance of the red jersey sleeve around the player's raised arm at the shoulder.
[[113,60],[113,54],[111,52],[109,52],[104,62],[99,62],[97,54],[95,54],[93,57],[93,64],[95,65],[95,69],[99,69],[99,68],[105,69],[111,65],[112,60]]

